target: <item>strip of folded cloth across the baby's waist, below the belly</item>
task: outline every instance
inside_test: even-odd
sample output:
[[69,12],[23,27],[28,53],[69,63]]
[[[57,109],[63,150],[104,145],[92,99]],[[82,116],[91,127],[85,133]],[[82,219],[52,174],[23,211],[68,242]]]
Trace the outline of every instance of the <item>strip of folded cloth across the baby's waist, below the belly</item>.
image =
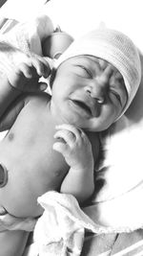
[[6,230],[25,230],[31,232],[36,221],[34,218],[16,218],[7,213],[0,216],[0,232]]

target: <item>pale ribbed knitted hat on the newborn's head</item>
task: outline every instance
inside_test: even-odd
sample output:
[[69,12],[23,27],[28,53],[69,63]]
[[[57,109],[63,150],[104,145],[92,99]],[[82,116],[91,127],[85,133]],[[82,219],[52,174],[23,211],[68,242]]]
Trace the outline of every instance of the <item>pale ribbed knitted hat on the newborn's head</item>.
[[127,104],[121,113],[123,115],[131,105],[141,81],[141,63],[133,41],[127,35],[111,29],[93,30],[75,39],[65,53],[57,59],[55,68],[58,68],[66,59],[80,55],[103,58],[121,73],[128,93]]

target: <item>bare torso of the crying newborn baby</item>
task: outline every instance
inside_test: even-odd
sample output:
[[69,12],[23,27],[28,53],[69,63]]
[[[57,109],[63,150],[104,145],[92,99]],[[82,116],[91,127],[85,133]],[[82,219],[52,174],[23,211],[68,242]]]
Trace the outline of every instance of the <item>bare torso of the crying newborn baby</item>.
[[19,217],[41,214],[37,197],[59,190],[69,170],[62,154],[52,150],[54,130],[45,97],[41,100],[32,99],[21,110],[0,143],[0,163],[8,170],[0,204]]

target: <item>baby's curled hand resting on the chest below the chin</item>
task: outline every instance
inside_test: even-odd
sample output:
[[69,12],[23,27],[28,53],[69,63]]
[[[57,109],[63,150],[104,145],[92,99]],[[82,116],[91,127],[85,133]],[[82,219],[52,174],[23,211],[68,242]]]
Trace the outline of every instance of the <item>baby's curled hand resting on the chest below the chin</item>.
[[54,138],[60,141],[53,144],[53,150],[61,152],[73,169],[93,170],[92,145],[84,131],[66,124],[56,129]]

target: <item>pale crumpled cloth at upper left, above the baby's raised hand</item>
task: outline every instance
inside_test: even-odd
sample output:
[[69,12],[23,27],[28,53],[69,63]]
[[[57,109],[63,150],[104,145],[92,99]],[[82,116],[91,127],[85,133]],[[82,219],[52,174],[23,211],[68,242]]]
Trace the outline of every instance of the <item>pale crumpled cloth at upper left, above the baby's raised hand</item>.
[[[0,76],[7,75],[16,65],[27,61],[27,55],[42,56],[42,41],[53,30],[47,15],[40,15],[28,22],[14,22],[10,30],[7,28],[7,32],[1,29]],[[52,67],[52,61],[50,65]]]

